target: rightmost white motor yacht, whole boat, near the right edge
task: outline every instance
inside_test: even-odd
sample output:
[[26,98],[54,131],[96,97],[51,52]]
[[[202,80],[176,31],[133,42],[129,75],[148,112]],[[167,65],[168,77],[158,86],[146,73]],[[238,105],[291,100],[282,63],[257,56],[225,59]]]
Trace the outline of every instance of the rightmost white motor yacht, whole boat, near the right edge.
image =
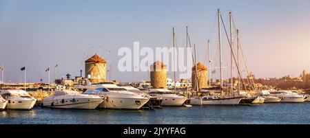
[[304,95],[298,95],[291,91],[276,91],[270,95],[280,97],[282,99],[280,102],[304,102],[307,99]]

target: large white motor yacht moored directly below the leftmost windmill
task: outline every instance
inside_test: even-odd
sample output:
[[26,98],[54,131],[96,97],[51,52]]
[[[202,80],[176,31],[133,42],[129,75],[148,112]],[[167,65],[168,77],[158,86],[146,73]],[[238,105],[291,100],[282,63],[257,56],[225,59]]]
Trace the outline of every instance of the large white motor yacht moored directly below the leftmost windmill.
[[139,109],[149,101],[147,95],[127,91],[116,84],[101,84],[101,87],[87,90],[85,94],[104,97],[99,108]]

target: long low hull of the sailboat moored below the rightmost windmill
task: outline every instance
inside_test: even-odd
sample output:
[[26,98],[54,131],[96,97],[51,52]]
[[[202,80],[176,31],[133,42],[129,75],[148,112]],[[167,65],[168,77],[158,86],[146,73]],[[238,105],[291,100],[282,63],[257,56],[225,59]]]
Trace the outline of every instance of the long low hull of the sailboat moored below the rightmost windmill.
[[210,99],[210,100],[202,100],[202,99],[192,99],[192,105],[236,105],[239,104],[242,97],[231,97],[231,98],[219,98],[219,99]]

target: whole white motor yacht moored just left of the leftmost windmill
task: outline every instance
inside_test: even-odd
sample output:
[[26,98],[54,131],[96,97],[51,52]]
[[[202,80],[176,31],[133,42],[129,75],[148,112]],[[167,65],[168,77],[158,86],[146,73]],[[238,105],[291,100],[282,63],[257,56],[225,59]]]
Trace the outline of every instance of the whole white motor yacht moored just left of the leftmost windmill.
[[103,97],[85,95],[78,91],[55,91],[53,95],[45,97],[41,106],[50,108],[79,108],[94,109],[103,102]]

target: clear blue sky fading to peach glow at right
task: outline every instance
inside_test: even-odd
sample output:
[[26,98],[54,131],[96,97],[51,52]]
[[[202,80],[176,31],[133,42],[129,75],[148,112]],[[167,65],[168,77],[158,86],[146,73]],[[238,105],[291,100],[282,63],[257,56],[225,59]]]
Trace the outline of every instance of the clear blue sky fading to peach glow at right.
[[[302,69],[310,70],[310,1],[303,0],[0,0],[0,65],[4,65],[6,82],[22,82],[19,69],[23,66],[27,81],[42,78],[47,82],[48,67],[51,78],[67,73],[79,76],[83,62],[96,53],[112,68],[107,78],[129,82],[132,72],[117,69],[118,49],[132,48],[134,41],[140,47],[172,47],[172,27],[183,47],[188,25],[198,61],[205,63],[210,39],[216,67],[218,8],[227,28],[232,11],[249,70],[256,78],[297,77]],[[225,37],[223,33],[223,65],[228,65]],[[225,78],[228,72],[224,69]],[[149,73],[135,72],[134,76],[136,81],[148,80]]]

